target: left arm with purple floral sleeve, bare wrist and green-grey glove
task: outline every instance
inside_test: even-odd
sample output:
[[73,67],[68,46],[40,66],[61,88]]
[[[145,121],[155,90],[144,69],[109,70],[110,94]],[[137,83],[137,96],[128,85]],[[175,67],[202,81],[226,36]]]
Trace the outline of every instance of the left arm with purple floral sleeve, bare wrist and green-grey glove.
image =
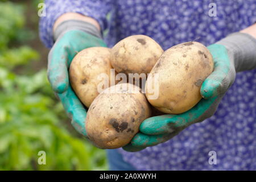
[[40,36],[47,47],[48,80],[62,102],[72,125],[86,137],[86,108],[69,84],[68,68],[77,52],[106,47],[101,30],[108,6],[96,1],[46,0],[46,16],[40,19]]

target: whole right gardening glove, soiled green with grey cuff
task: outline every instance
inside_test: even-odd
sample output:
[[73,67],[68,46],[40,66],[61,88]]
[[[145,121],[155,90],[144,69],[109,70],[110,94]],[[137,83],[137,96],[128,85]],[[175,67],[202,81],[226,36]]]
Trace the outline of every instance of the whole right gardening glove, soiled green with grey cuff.
[[203,99],[181,114],[166,114],[144,120],[139,133],[126,151],[139,151],[166,142],[193,123],[204,121],[217,110],[226,91],[233,84],[236,72],[256,68],[256,39],[249,34],[234,33],[208,47],[213,56],[214,70],[201,85]]

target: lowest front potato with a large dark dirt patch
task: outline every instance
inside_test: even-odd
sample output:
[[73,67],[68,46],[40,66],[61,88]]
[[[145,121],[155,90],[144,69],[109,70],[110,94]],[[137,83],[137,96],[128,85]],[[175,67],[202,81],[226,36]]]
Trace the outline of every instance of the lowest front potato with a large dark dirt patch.
[[101,92],[90,105],[86,132],[99,148],[119,148],[138,133],[150,112],[150,104],[138,86],[117,84]]

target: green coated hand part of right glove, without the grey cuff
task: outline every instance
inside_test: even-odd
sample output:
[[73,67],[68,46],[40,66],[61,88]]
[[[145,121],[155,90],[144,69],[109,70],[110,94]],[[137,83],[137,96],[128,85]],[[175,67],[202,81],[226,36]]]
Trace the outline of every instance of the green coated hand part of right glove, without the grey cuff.
[[201,85],[203,97],[196,106],[181,114],[166,114],[145,119],[124,150],[135,152],[166,142],[193,123],[204,121],[217,110],[218,104],[236,77],[234,61],[222,45],[208,47],[213,56],[214,70]]

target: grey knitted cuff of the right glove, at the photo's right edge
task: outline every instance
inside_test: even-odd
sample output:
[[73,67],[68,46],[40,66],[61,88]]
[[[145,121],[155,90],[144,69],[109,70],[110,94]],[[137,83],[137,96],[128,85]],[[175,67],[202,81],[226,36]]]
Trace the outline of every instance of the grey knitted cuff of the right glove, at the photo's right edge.
[[226,47],[229,58],[234,61],[236,72],[256,68],[256,39],[253,36],[237,32],[216,44]]

